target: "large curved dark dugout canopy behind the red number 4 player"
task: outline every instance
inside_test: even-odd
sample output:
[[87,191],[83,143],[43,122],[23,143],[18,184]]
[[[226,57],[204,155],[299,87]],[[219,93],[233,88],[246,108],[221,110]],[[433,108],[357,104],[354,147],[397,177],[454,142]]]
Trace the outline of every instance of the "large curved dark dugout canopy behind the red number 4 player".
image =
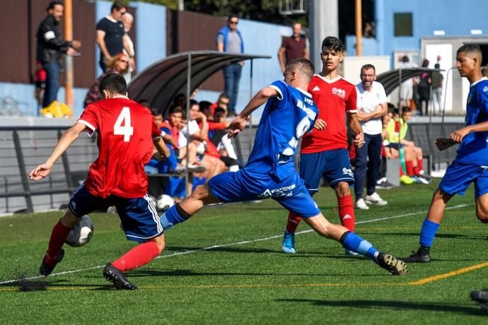
[[[178,93],[190,94],[211,75],[238,61],[270,59],[267,55],[226,54],[216,51],[190,51],[157,61],[129,83],[129,98],[147,100],[165,112]],[[190,82],[188,82],[190,81]],[[190,87],[187,85],[190,84]]]

